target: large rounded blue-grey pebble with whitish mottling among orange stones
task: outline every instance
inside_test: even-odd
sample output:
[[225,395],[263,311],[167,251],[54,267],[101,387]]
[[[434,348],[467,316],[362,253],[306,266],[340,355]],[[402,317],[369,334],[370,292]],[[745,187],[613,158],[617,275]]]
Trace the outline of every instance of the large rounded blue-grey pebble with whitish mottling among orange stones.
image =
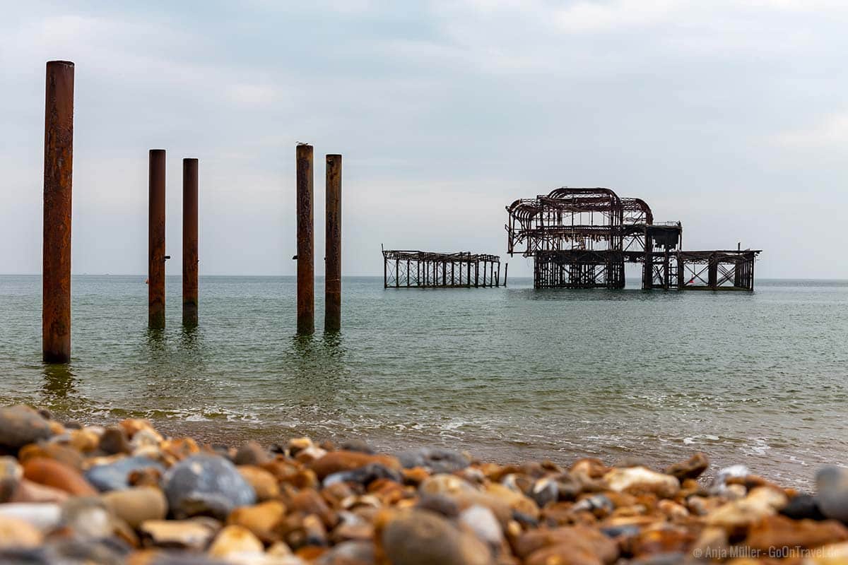
[[253,504],[256,494],[224,457],[195,455],[176,463],[163,478],[176,518],[206,515],[225,519],[235,507]]

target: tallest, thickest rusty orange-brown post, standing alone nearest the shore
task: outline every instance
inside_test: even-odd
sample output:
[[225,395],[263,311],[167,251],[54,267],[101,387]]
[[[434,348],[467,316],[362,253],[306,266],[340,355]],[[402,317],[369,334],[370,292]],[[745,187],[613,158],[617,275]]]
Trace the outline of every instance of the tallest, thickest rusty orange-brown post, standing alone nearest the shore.
[[74,64],[47,62],[44,102],[42,357],[70,361],[70,189],[74,155]]

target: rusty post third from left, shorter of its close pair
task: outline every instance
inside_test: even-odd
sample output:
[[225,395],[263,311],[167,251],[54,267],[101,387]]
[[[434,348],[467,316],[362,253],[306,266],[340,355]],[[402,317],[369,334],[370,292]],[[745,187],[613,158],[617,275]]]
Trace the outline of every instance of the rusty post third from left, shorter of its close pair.
[[197,159],[182,159],[182,324],[198,324]]

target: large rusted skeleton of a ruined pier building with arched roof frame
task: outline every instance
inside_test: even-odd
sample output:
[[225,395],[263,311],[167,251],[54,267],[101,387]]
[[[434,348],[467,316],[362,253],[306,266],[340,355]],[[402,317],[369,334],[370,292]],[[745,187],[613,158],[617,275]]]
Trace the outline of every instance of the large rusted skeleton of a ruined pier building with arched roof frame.
[[642,288],[754,290],[759,250],[683,251],[680,222],[608,188],[557,188],[506,207],[507,252],[533,258],[536,288],[624,288],[624,263],[643,263]]

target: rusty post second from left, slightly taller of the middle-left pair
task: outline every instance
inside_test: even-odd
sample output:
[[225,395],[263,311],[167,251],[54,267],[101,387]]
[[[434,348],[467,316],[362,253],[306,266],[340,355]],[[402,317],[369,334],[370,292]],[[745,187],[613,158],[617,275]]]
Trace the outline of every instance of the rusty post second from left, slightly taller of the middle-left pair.
[[148,176],[148,327],[165,328],[165,149],[150,150]]

